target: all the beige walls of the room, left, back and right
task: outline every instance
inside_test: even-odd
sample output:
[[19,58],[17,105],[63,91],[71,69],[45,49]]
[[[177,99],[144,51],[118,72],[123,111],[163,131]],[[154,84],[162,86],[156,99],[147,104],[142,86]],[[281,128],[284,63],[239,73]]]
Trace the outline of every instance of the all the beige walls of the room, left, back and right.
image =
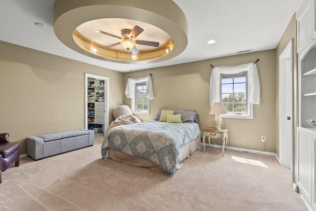
[[[214,115],[208,114],[210,65],[240,65],[259,58],[261,102],[254,105],[254,119],[224,118],[222,127],[229,129],[229,146],[279,155],[278,56],[292,38],[296,52],[295,15],[276,49],[128,73],[0,41],[0,132],[10,133],[10,141],[20,142],[21,154],[25,154],[25,140],[29,136],[84,128],[85,72],[110,78],[109,122],[113,121],[115,107],[130,106],[124,95],[127,76],[137,78],[152,73],[155,99],[150,104],[150,115],[137,115],[142,121],[154,119],[158,108],[187,108],[197,110],[200,129],[215,126]],[[296,110],[297,56],[294,55]],[[293,116],[296,122],[296,111]],[[261,136],[266,136],[266,144],[260,141]],[[212,143],[221,144],[221,140]]]

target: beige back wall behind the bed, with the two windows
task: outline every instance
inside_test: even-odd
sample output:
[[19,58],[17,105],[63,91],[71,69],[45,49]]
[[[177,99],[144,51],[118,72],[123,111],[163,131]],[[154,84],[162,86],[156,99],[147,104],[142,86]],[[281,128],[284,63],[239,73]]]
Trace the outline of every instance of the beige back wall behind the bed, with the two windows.
[[[214,115],[209,115],[209,80],[212,64],[230,66],[257,63],[260,79],[261,102],[254,105],[254,119],[223,119],[222,127],[230,133],[229,145],[233,147],[275,152],[276,137],[276,50],[247,53],[237,56],[174,65],[151,70],[124,73],[132,78],[152,73],[155,99],[150,102],[150,115],[137,115],[141,120],[154,119],[158,108],[196,109],[200,128],[215,126]],[[124,96],[124,104],[130,99]],[[267,138],[266,146],[261,136]],[[215,140],[221,144],[221,140]]]

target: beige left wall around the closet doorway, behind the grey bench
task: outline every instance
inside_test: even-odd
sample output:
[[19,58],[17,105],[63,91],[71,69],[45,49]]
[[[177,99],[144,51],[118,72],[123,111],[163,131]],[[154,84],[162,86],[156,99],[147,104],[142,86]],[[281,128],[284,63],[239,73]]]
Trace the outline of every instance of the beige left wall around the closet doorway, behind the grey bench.
[[110,117],[123,103],[123,73],[0,41],[0,133],[26,138],[85,127],[85,75],[109,77]]

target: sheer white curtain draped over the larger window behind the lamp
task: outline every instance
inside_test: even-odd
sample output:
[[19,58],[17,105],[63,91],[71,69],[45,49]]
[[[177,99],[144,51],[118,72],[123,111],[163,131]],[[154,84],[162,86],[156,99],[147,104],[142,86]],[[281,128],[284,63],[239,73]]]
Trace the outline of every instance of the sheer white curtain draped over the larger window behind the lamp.
[[221,102],[221,74],[236,74],[248,71],[248,102],[260,104],[260,82],[256,64],[248,63],[238,66],[215,67],[212,70],[209,86],[209,106],[215,102]]

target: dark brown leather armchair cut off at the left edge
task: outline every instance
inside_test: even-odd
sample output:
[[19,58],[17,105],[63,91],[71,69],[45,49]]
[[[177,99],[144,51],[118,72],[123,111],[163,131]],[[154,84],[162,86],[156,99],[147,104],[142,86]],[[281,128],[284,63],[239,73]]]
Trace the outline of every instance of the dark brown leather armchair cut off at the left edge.
[[8,133],[0,134],[0,183],[1,172],[11,167],[20,166],[20,144],[18,142],[10,142]]

